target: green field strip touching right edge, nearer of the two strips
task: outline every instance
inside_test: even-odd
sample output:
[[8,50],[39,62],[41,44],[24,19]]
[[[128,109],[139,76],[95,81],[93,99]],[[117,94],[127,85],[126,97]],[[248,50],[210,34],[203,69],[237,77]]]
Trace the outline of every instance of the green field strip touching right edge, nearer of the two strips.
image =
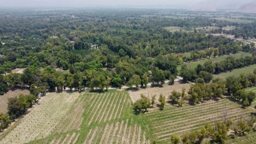
[[214,78],[225,79],[228,76],[239,76],[240,74],[249,74],[253,73],[253,70],[256,69],[256,64],[250,65],[249,67],[235,69],[226,73],[221,73],[219,75],[214,75]]

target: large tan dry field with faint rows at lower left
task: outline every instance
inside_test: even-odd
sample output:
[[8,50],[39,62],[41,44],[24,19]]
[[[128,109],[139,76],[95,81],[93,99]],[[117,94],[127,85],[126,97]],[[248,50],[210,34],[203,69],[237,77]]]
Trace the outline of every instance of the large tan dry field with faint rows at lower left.
[[[43,139],[53,134],[54,131],[80,127],[82,118],[79,116],[82,113],[77,114],[78,109],[73,109],[75,104],[79,107],[78,97],[79,93],[46,94],[27,115],[0,135],[0,143],[26,143]],[[71,118],[72,121],[68,121]]]

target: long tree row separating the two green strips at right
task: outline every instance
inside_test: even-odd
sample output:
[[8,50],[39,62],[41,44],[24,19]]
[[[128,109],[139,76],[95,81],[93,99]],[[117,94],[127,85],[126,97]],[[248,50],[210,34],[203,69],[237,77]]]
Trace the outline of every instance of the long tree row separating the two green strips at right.
[[207,61],[203,65],[199,64],[195,69],[188,68],[186,64],[182,65],[181,76],[184,81],[196,81],[201,78],[206,83],[210,82],[213,78],[212,74],[219,74],[225,71],[230,71],[237,68],[247,67],[256,63],[255,56],[246,56],[235,58],[232,56],[227,57],[221,62]]

